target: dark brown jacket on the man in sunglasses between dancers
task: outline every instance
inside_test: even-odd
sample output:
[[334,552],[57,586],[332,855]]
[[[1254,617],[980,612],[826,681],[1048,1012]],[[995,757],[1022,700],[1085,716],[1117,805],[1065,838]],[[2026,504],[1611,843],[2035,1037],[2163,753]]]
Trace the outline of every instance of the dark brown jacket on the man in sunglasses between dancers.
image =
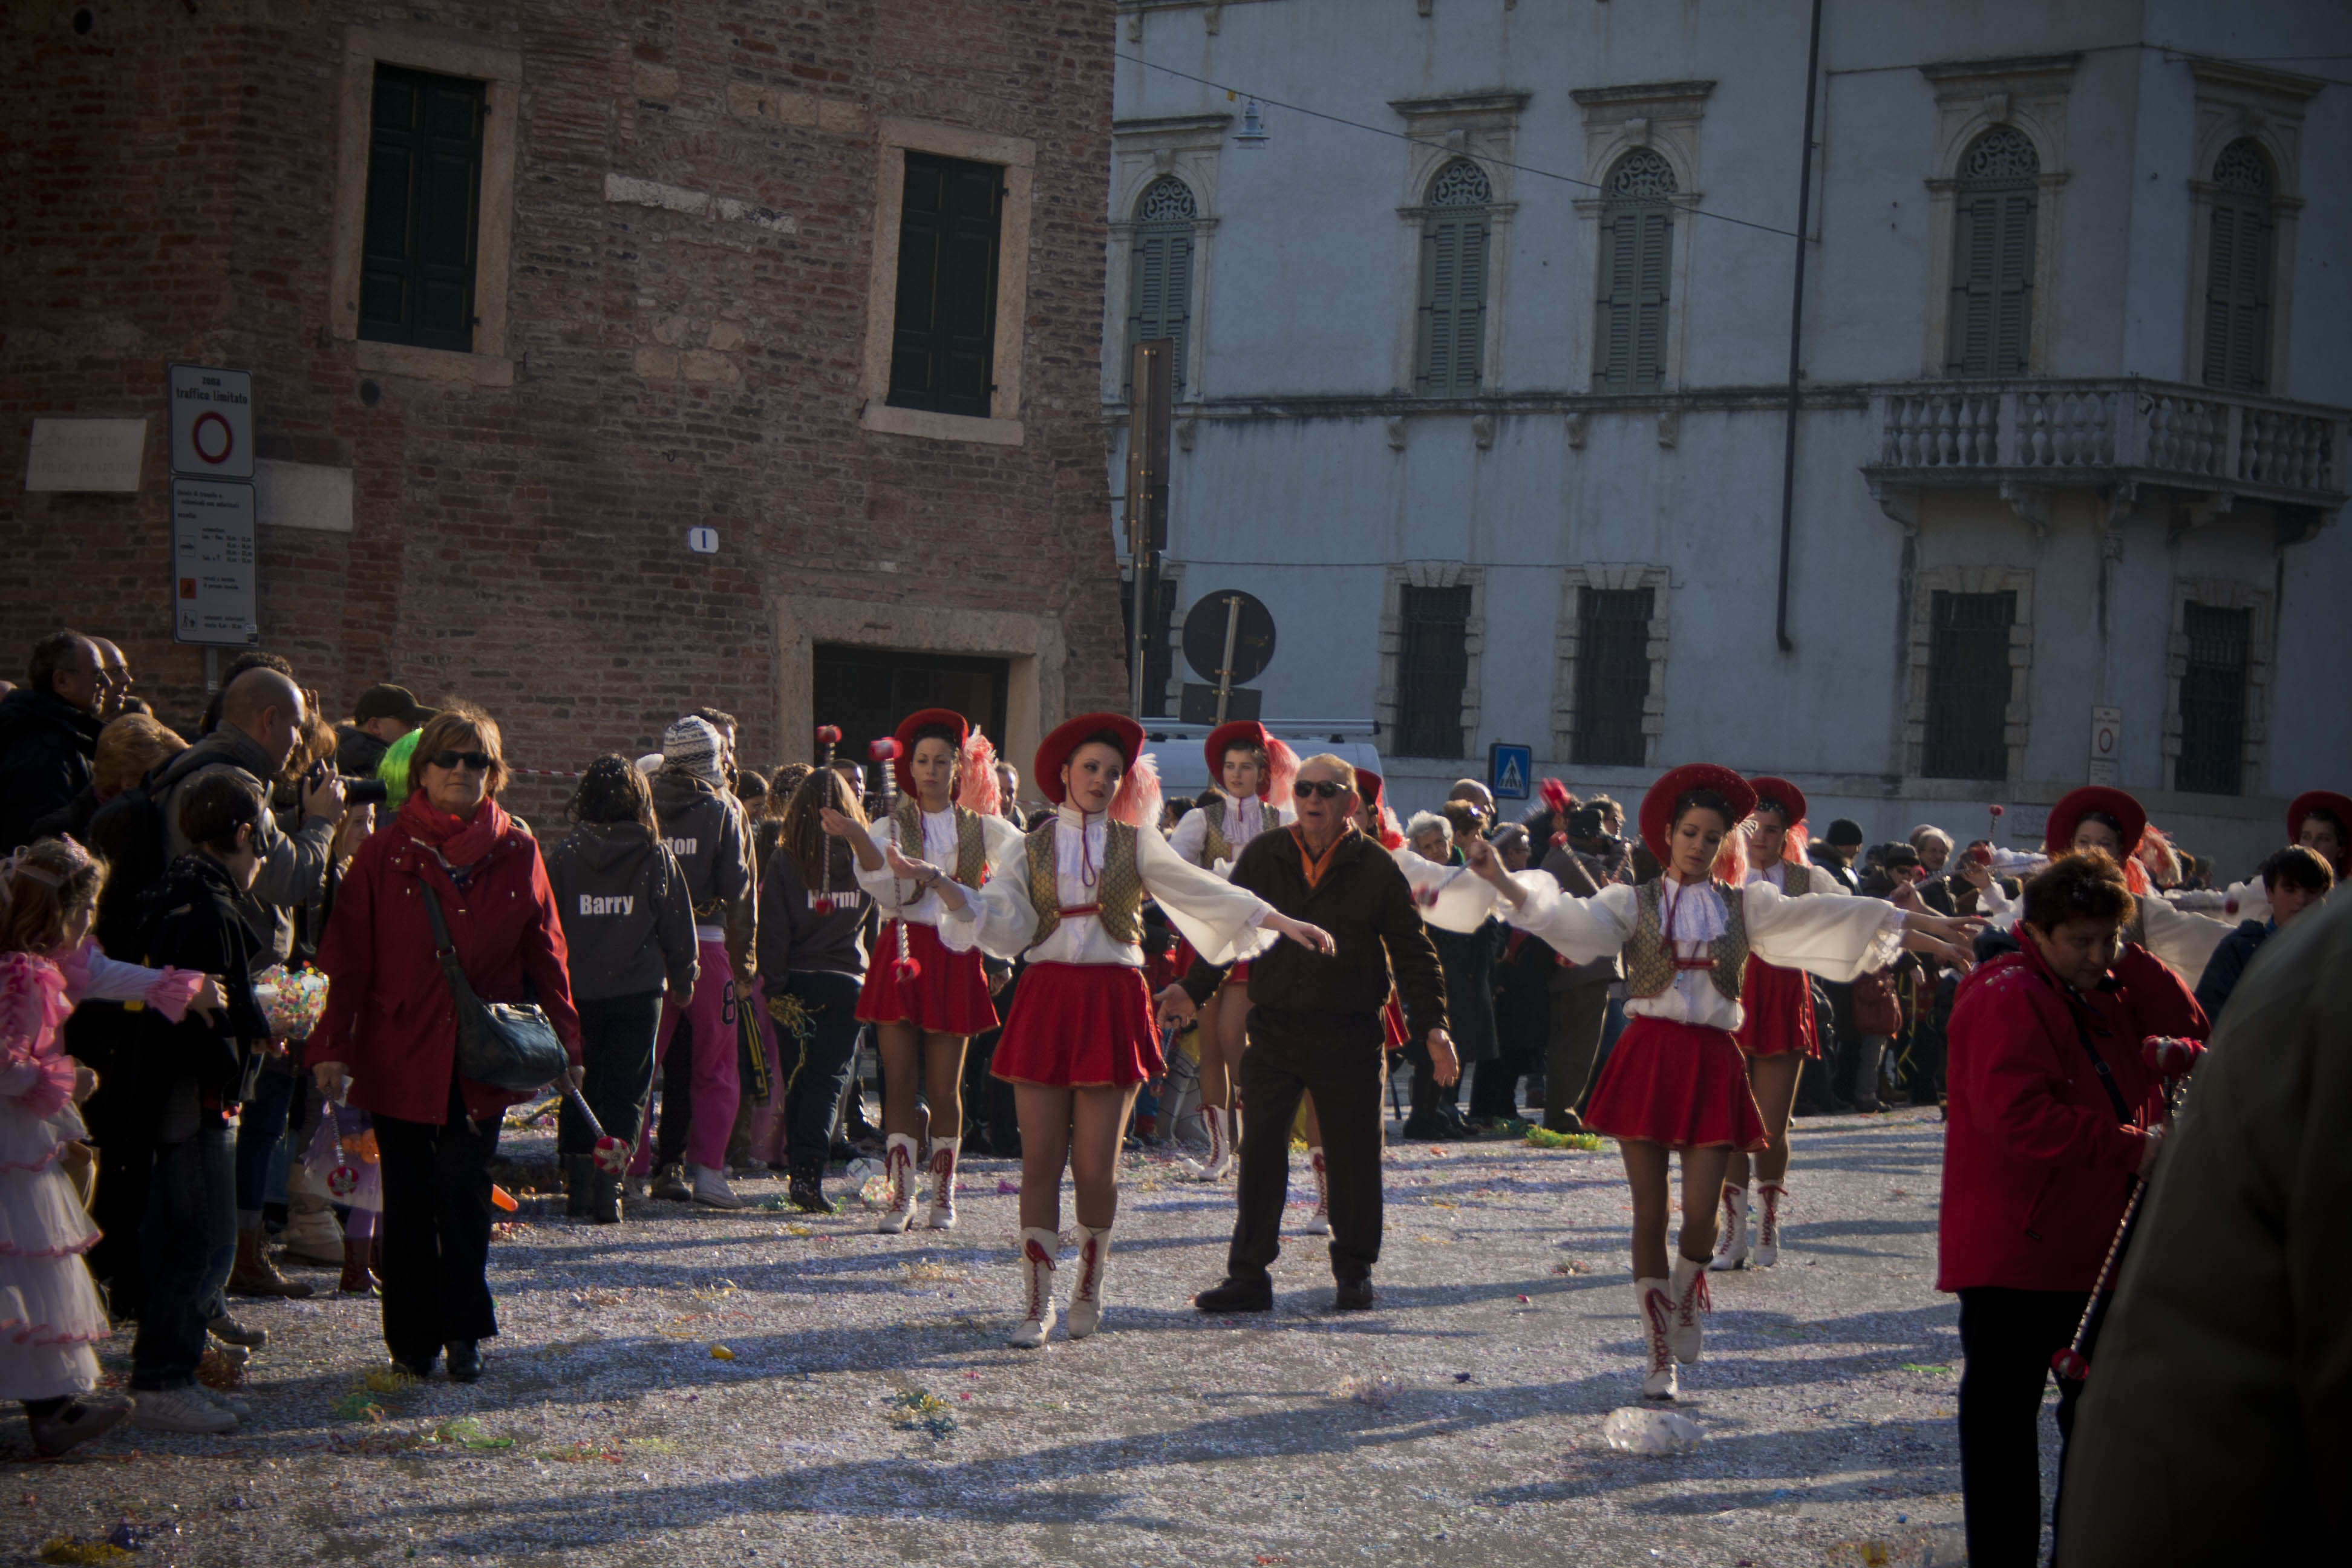
[[[1338,945],[1331,957],[1322,957],[1291,940],[1275,943],[1249,964],[1254,1006],[1282,1013],[1362,1013],[1378,1034],[1376,1020],[1395,978],[1411,1039],[1428,1039],[1430,1030],[1446,1027],[1446,980],[1437,969],[1437,947],[1421,926],[1404,872],[1376,842],[1350,830],[1331,849],[1322,882],[1310,889],[1298,835],[1261,832],[1242,849],[1232,884],[1291,919],[1322,926]],[[1207,1001],[1223,978],[1223,969],[1195,961],[1183,987],[1192,1001]]]

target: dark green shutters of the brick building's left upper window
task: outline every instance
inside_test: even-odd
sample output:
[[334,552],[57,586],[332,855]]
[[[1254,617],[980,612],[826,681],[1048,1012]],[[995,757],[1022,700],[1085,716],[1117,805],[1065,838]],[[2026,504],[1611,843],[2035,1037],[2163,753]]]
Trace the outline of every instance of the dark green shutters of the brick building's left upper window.
[[473,353],[487,85],[376,66],[360,336]]

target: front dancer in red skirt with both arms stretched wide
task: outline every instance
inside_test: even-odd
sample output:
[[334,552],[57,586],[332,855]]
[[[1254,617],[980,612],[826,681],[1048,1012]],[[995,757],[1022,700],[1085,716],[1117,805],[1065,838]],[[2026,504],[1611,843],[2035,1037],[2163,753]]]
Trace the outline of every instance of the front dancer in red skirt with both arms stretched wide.
[[[1771,1140],[1748,1088],[1731,1032],[1740,1027],[1748,957],[1853,980],[1893,961],[1900,947],[1933,952],[1962,969],[1969,922],[1898,910],[1877,898],[1783,898],[1771,882],[1745,882],[1738,825],[1757,795],[1731,769],[1693,762],[1670,771],[1642,799],[1642,842],[1665,875],[1573,898],[1543,872],[1503,870],[1494,846],[1470,842],[1470,863],[1503,896],[1503,914],[1564,957],[1592,964],[1625,957],[1625,1013],[1585,1126],[1618,1140],[1632,1185],[1635,1300],[1649,1338],[1642,1394],[1675,1396],[1675,1363],[1698,1361],[1700,1314],[1710,1309],[1715,1199],[1733,1150]],[[1731,846],[1729,877],[1717,856]],[[1682,1237],[1665,1260],[1668,1154],[1682,1154]]]

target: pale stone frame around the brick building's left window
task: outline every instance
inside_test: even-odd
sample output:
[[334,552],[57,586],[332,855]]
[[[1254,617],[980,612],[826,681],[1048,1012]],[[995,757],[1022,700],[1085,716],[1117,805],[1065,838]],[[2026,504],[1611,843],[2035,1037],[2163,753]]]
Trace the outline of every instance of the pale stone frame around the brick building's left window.
[[[473,350],[379,343],[360,336],[360,249],[367,240],[367,148],[376,66],[405,66],[482,82],[482,190],[473,263]],[[343,28],[336,89],[334,240],[327,263],[327,329],[353,346],[362,371],[513,386],[506,292],[515,249],[515,136],[522,122],[522,52],[440,28]]]

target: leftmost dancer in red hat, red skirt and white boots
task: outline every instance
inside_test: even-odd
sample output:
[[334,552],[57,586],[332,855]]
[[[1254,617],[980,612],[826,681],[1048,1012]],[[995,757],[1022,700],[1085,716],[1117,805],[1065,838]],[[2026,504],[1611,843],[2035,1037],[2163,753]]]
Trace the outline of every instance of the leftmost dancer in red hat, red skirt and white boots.
[[[950,867],[978,886],[1021,851],[1021,830],[997,816],[997,752],[960,712],[924,708],[898,719],[898,809],[861,827],[840,811],[823,825],[858,858],[858,886],[887,917],[866,966],[858,1018],[882,1048],[882,1171],[889,1208],[875,1229],[903,1232],[915,1218],[915,1157],[922,1100],[931,1105],[931,1229],[955,1227],[955,1157],[964,1135],[964,1048],[997,1027],[981,954],[938,945],[938,893],[889,875],[882,856]],[[898,961],[901,952],[910,966]]]

